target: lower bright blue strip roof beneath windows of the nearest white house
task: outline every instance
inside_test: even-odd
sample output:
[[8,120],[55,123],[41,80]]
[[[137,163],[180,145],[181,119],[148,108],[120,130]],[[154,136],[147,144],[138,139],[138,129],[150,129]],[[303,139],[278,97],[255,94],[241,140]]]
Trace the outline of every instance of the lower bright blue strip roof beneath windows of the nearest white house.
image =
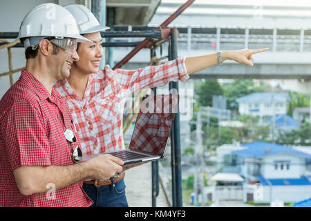
[[257,178],[263,186],[311,185],[311,179],[308,179],[308,177],[300,177],[299,179],[265,179],[264,177],[258,176]]

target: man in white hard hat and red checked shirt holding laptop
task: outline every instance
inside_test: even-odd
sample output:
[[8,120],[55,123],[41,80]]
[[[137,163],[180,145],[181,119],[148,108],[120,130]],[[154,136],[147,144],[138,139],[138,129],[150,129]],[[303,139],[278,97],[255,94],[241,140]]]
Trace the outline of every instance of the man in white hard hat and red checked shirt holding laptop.
[[79,60],[77,42],[89,41],[70,12],[53,3],[28,12],[19,38],[26,69],[0,100],[0,204],[90,206],[82,180],[108,179],[123,161],[105,155],[82,162],[68,105],[53,88]]

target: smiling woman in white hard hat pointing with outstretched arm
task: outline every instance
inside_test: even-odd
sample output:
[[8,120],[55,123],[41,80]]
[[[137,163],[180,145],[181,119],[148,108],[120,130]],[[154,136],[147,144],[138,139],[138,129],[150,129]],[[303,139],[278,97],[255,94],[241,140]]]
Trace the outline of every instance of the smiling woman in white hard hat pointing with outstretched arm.
[[[70,5],[66,9],[75,17],[80,34],[93,42],[79,44],[77,53],[80,59],[72,64],[70,77],[55,85],[72,111],[84,155],[124,148],[122,108],[126,96],[134,91],[162,87],[170,81],[187,80],[189,74],[218,64],[218,55],[212,54],[178,57],[156,67],[131,71],[113,71],[109,66],[99,70],[104,55],[100,31],[107,27],[100,26],[91,11],[82,5]],[[252,54],[262,51],[267,48],[227,51],[221,53],[221,57],[223,61],[235,60],[252,66]],[[124,173],[106,181],[85,181],[83,188],[93,200],[93,206],[128,206],[123,178]]]

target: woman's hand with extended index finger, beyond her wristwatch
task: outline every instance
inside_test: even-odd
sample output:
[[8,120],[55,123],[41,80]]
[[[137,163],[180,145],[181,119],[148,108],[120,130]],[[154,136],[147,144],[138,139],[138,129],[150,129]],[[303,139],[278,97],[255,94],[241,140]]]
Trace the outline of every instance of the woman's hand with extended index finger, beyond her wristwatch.
[[225,51],[221,53],[223,56],[223,60],[234,60],[240,64],[246,64],[252,67],[254,64],[254,58],[252,55],[256,53],[261,53],[263,51],[267,51],[269,48],[261,48],[261,49],[243,49],[238,51]]

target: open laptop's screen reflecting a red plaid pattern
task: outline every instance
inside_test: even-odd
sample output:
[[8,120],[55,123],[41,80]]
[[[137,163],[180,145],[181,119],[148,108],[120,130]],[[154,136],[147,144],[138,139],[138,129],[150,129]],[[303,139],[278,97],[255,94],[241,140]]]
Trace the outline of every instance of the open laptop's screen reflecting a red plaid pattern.
[[164,155],[171,126],[178,111],[178,95],[144,96],[136,118],[130,149]]

